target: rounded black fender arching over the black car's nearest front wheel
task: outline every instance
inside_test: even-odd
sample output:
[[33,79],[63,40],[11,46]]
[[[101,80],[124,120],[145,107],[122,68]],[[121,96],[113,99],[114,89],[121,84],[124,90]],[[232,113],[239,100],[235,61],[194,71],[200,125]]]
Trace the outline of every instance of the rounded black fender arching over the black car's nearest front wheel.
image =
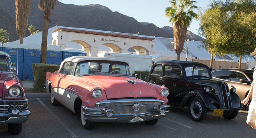
[[[184,108],[185,106],[189,106],[190,100],[193,97],[200,98],[206,108],[210,108],[210,109],[220,108],[219,99],[214,94],[206,93],[206,92],[203,92],[203,91],[191,91],[191,92],[189,92],[184,97],[182,102],[180,103],[180,108]],[[215,104],[211,103],[211,101],[214,101]]]

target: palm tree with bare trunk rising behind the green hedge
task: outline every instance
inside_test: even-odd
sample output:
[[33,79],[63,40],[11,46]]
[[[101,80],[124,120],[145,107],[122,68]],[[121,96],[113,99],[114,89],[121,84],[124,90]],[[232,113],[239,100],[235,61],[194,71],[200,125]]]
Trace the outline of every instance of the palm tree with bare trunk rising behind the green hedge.
[[53,14],[50,14],[50,11],[55,10],[56,2],[57,0],[39,0],[38,7],[44,12],[40,63],[46,63],[48,23],[51,22],[50,15]]

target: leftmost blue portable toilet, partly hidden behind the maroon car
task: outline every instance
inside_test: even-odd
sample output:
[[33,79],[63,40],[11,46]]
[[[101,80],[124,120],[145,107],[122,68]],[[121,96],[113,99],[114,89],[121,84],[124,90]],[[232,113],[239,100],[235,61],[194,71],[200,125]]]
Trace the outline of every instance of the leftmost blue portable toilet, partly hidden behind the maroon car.
[[[20,79],[22,79],[23,78],[23,54],[24,54],[23,45],[16,42],[7,42],[7,43],[4,43],[2,49],[4,52],[10,55],[12,62],[15,63],[15,67],[17,68],[18,76],[20,77]],[[18,60],[17,60],[17,57],[18,57]]]

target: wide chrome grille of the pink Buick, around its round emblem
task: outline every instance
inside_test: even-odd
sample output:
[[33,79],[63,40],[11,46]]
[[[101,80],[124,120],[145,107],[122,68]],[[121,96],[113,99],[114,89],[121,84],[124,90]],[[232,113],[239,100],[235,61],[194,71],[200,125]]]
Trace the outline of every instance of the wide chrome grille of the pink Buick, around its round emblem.
[[[111,100],[110,100],[111,101]],[[139,104],[140,109],[138,111],[132,110],[133,104]],[[156,104],[162,105],[163,101],[125,101],[125,102],[107,102],[99,103],[99,107],[107,107],[114,111],[114,114],[143,114],[148,112],[154,112]]]

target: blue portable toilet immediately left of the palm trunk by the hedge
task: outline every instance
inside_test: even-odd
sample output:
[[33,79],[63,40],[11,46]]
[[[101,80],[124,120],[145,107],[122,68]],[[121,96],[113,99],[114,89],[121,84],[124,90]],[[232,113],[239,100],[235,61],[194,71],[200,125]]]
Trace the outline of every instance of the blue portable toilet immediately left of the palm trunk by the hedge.
[[24,45],[23,78],[34,80],[32,63],[40,63],[41,45],[30,43]]

